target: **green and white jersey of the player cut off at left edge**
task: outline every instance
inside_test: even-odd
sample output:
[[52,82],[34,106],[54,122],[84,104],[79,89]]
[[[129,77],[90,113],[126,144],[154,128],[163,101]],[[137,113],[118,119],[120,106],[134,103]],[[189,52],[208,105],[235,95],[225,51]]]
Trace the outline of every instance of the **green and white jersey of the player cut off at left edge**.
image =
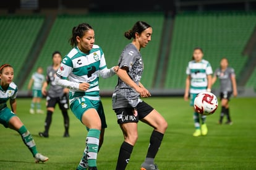
[[[0,81],[1,82],[1,81]],[[15,99],[17,97],[17,85],[15,85],[14,82],[11,82],[7,90],[3,90],[1,85],[0,85],[0,111],[3,108],[7,107],[7,101],[9,98]]]

